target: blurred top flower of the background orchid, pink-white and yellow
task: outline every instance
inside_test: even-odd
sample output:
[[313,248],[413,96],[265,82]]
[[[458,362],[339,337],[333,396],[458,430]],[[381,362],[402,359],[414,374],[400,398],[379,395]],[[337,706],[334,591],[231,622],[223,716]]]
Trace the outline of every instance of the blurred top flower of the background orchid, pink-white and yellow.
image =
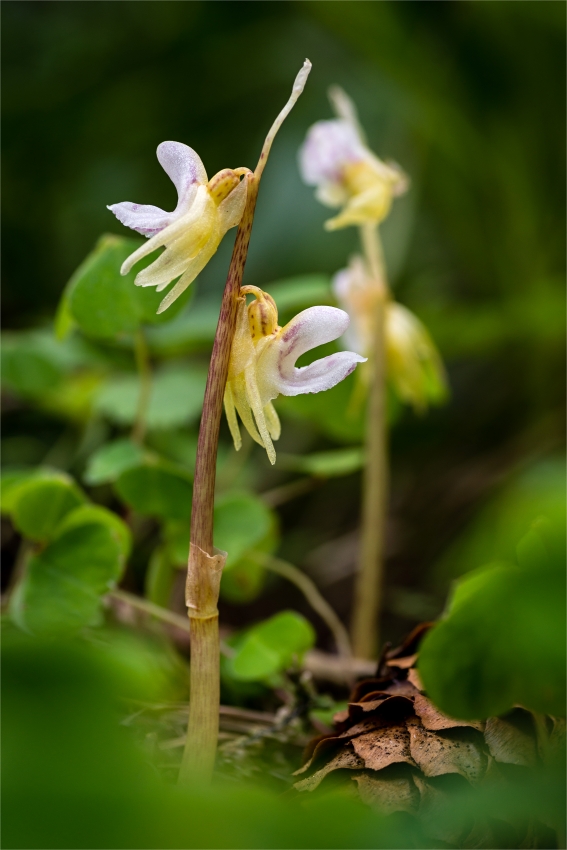
[[325,222],[327,230],[377,224],[388,215],[392,199],[407,190],[408,178],[396,163],[383,162],[367,147],[350,98],[336,87],[329,96],[337,118],[309,129],[299,151],[303,180],[317,187],[322,204],[342,207]]

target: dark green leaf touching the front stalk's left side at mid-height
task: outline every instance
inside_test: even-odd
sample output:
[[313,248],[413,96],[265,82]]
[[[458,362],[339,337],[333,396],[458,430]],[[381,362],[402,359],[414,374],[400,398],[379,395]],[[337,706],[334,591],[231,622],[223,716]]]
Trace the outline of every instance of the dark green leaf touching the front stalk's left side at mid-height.
[[191,515],[193,484],[185,470],[159,458],[146,458],[114,483],[120,498],[140,514],[164,519]]

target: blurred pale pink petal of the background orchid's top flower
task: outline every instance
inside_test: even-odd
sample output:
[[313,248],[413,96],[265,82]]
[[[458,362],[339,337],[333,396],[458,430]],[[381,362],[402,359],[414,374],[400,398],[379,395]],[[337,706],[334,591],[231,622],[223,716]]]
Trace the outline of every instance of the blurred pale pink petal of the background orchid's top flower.
[[347,121],[318,121],[299,151],[299,168],[308,186],[341,181],[345,165],[365,159],[367,151]]

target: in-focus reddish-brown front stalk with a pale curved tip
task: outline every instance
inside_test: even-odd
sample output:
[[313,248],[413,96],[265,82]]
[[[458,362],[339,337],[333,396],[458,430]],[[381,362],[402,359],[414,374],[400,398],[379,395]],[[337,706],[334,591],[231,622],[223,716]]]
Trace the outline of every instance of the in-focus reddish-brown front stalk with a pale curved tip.
[[[189,726],[179,782],[207,783],[212,778],[218,740],[220,671],[217,601],[225,553],[213,548],[213,509],[217,446],[230,350],[236,326],[236,306],[254,220],[260,178],[274,137],[300,96],[311,63],[306,60],[297,75],[291,97],[272,125],[255,173],[247,172],[246,207],[238,227],[221,310],[197,443],[191,512],[191,544],[187,567],[187,606],[191,625],[191,693]],[[244,173],[245,169],[240,172]]]

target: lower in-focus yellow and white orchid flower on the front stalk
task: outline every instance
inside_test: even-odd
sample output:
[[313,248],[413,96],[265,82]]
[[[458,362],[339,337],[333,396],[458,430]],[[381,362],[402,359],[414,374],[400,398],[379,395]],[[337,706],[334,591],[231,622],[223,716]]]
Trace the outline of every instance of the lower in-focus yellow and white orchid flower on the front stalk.
[[[249,294],[255,301],[247,307]],[[347,329],[349,317],[336,307],[310,307],[281,328],[274,299],[256,286],[243,286],[237,309],[224,394],[226,418],[237,450],[242,445],[238,412],[250,436],[264,446],[273,464],[276,453],[272,441],[279,438],[281,427],[272,401],[280,394],[329,390],[365,358],[352,351],[339,351],[296,368],[301,354],[337,339]]]

